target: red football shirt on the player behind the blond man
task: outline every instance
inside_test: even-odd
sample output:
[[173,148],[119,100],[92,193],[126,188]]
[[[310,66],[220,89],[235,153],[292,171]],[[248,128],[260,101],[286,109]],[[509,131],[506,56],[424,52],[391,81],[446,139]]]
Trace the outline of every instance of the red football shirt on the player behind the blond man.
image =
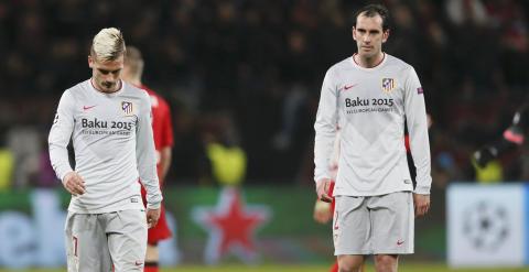
[[151,97],[152,133],[154,137],[154,146],[156,149],[158,176],[160,177],[160,151],[163,148],[173,146],[173,124],[171,121],[171,109],[169,108],[168,101],[165,101],[163,97],[149,89],[144,85],[142,85],[141,88],[144,89]]

